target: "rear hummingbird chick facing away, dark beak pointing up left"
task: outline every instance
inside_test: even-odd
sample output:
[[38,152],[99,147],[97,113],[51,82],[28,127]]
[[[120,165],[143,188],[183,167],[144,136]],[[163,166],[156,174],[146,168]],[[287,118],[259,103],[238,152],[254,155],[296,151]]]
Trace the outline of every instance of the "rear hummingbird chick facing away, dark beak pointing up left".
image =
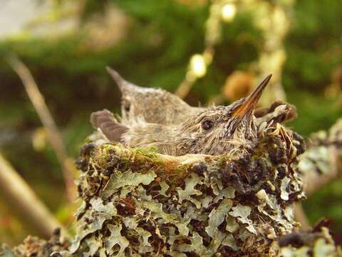
[[163,89],[144,88],[125,81],[110,67],[107,67],[107,71],[122,94],[121,115],[124,124],[130,124],[140,117],[147,123],[177,125],[204,111],[204,108],[192,107]]

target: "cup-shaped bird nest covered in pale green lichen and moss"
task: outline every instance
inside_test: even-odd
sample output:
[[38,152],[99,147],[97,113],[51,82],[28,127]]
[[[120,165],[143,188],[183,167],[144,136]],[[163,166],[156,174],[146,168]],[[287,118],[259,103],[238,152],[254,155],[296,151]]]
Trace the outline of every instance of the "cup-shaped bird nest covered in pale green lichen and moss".
[[303,151],[303,139],[283,127],[239,157],[87,143],[78,159],[78,233],[61,254],[274,256],[276,238],[296,226]]

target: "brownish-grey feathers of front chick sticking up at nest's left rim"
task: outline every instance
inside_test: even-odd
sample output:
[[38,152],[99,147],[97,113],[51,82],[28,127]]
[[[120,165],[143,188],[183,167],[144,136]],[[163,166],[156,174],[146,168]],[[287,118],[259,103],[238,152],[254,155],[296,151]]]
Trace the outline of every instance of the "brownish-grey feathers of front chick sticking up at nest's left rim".
[[123,133],[128,131],[128,127],[120,124],[107,109],[93,112],[90,123],[95,129],[100,129],[109,141],[120,142]]

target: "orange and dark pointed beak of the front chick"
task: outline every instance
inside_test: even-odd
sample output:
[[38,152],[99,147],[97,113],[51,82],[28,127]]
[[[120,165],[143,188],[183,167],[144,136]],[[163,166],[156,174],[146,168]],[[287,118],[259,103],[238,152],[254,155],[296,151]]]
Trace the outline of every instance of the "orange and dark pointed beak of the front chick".
[[255,106],[257,106],[258,104],[262,91],[264,91],[267,84],[269,84],[271,76],[272,74],[266,76],[266,78],[263,81],[261,81],[259,86],[257,86],[252,91],[252,93],[246,97],[244,102],[239,107],[237,107],[237,109],[234,110],[234,113],[232,114],[233,117],[238,116],[239,119],[242,119],[245,114],[247,114],[249,111],[254,110]]

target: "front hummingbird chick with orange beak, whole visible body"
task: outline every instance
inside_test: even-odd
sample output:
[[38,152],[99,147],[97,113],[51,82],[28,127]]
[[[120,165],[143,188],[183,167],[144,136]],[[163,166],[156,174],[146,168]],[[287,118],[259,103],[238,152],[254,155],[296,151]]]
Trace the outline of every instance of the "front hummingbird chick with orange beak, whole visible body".
[[172,156],[248,151],[257,141],[254,109],[270,79],[271,74],[249,96],[229,106],[204,109],[178,125],[137,121],[126,126],[119,123],[108,110],[91,114],[90,122],[108,140],[118,141],[128,148],[155,146],[158,153]]

